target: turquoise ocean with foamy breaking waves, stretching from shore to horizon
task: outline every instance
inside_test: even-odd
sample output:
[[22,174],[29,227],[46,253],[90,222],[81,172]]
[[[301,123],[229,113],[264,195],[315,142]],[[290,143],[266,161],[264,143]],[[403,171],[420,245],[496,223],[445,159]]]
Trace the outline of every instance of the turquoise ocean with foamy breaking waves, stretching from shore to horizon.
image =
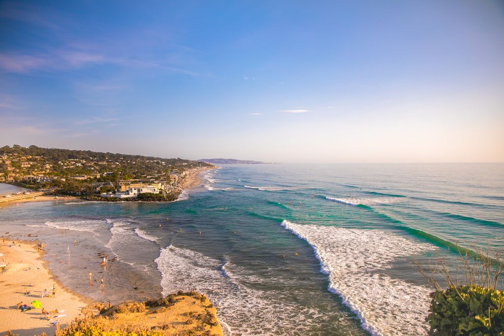
[[[0,222],[50,241],[53,272],[96,300],[195,289],[232,334],[426,334],[412,257],[504,247],[503,191],[503,164],[229,166],[174,203],[22,204]],[[102,271],[98,252],[119,261]]]

